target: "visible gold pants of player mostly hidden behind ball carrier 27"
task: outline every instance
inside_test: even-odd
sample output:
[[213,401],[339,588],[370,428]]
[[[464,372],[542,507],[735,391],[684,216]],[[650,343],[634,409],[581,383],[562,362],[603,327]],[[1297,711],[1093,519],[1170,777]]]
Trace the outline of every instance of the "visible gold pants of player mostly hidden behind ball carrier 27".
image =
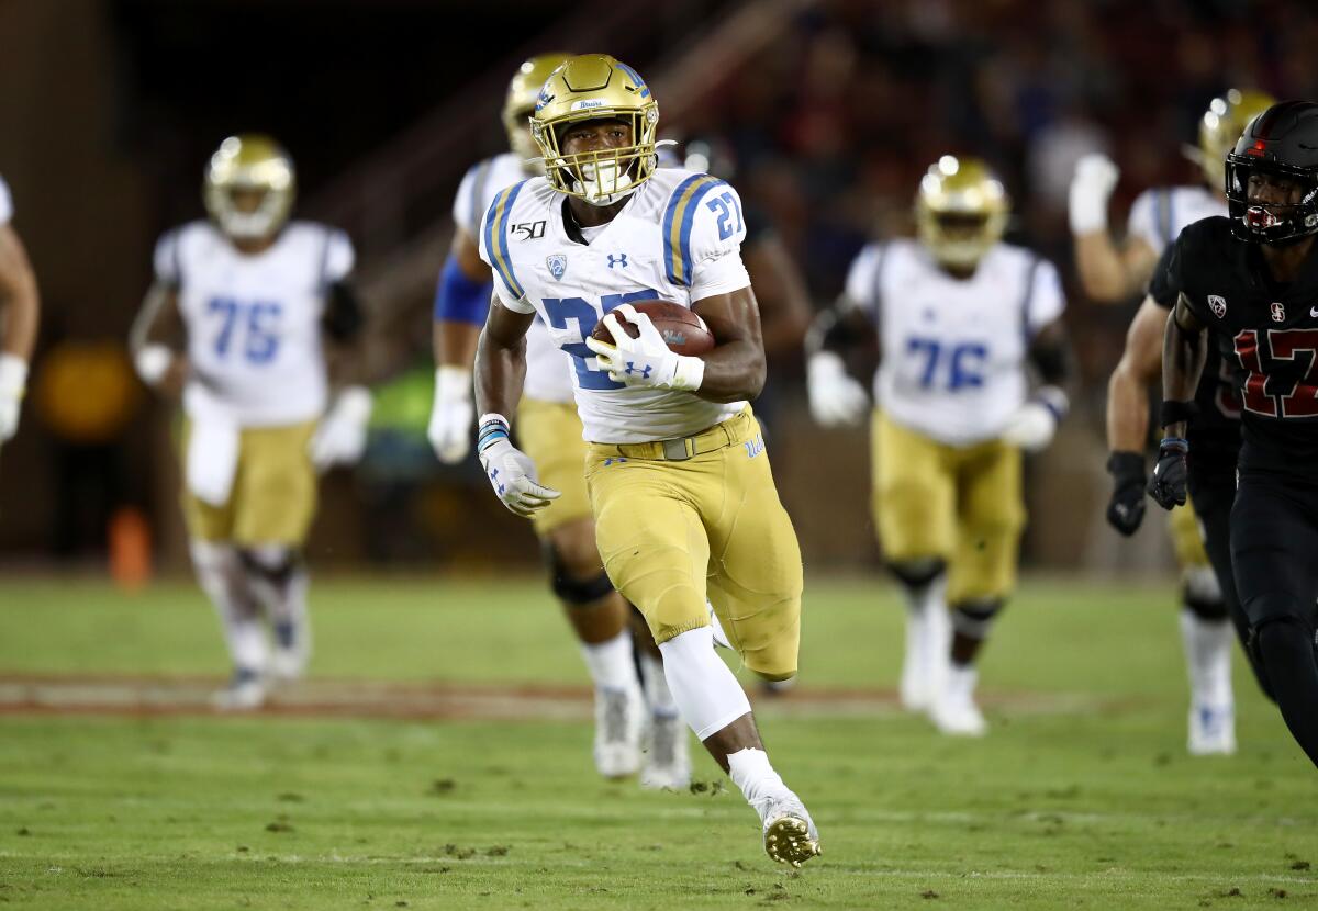
[[563,494],[531,516],[538,537],[555,528],[590,517],[590,498],[585,492],[585,440],[581,419],[571,402],[522,399],[517,408],[518,448],[535,462],[535,473],[546,487]]

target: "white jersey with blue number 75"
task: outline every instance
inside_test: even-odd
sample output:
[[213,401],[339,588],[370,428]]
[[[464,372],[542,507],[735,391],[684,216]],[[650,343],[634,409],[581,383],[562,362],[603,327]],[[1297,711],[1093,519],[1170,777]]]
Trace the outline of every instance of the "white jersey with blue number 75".
[[352,271],[341,230],[290,222],[274,245],[246,255],[208,221],[156,245],[156,276],[178,290],[187,357],[198,379],[244,427],[318,419],[328,379],[320,348],[326,290]]

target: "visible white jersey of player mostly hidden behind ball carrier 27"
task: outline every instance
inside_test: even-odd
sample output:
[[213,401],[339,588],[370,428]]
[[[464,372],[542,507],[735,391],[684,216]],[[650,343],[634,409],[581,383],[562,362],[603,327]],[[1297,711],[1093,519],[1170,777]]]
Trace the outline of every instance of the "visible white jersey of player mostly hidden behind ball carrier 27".
[[[480,237],[481,219],[500,190],[526,180],[522,159],[511,151],[477,162],[463,178],[453,199],[453,224]],[[572,402],[572,365],[550,340],[539,319],[526,333],[526,380],[523,394],[540,402]]]

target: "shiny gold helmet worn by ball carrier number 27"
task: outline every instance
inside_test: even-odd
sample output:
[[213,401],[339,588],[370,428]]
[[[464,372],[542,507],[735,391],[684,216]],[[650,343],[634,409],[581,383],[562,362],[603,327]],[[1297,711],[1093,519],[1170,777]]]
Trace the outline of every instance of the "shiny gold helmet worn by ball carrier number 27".
[[[563,133],[583,120],[629,124],[631,145],[564,155]],[[641,74],[608,54],[583,54],[546,80],[531,115],[531,138],[555,190],[592,205],[610,205],[654,175],[658,124],[659,105]]]

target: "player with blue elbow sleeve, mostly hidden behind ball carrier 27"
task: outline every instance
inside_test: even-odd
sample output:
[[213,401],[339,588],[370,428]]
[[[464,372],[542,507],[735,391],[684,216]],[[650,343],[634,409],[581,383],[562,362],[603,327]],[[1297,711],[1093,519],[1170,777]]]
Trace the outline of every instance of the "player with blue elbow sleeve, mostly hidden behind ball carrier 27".
[[[435,404],[430,441],[442,462],[460,462],[472,437],[472,362],[476,340],[493,291],[490,267],[481,261],[481,216],[506,187],[544,169],[531,141],[530,115],[540,86],[571,57],[540,54],[522,63],[503,103],[503,126],[511,151],[468,170],[453,201],[453,245],[435,296]],[[546,222],[515,225],[519,240],[544,233]],[[525,237],[523,237],[525,236]],[[589,328],[589,326],[587,326]],[[687,732],[663,677],[658,650],[633,658],[631,607],[609,582],[594,544],[594,520],[585,491],[585,440],[572,402],[569,357],[536,319],[526,334],[525,394],[517,412],[517,438],[535,462],[540,479],[561,492],[531,517],[550,570],[550,585],[581,644],[594,685],[594,764],[606,778],[641,770],[645,787],[685,787],[691,778]],[[645,633],[648,638],[648,633]],[[654,644],[650,644],[654,649]],[[637,681],[645,677],[645,696]],[[646,706],[648,702],[648,725]],[[642,768],[642,736],[648,740]]]

